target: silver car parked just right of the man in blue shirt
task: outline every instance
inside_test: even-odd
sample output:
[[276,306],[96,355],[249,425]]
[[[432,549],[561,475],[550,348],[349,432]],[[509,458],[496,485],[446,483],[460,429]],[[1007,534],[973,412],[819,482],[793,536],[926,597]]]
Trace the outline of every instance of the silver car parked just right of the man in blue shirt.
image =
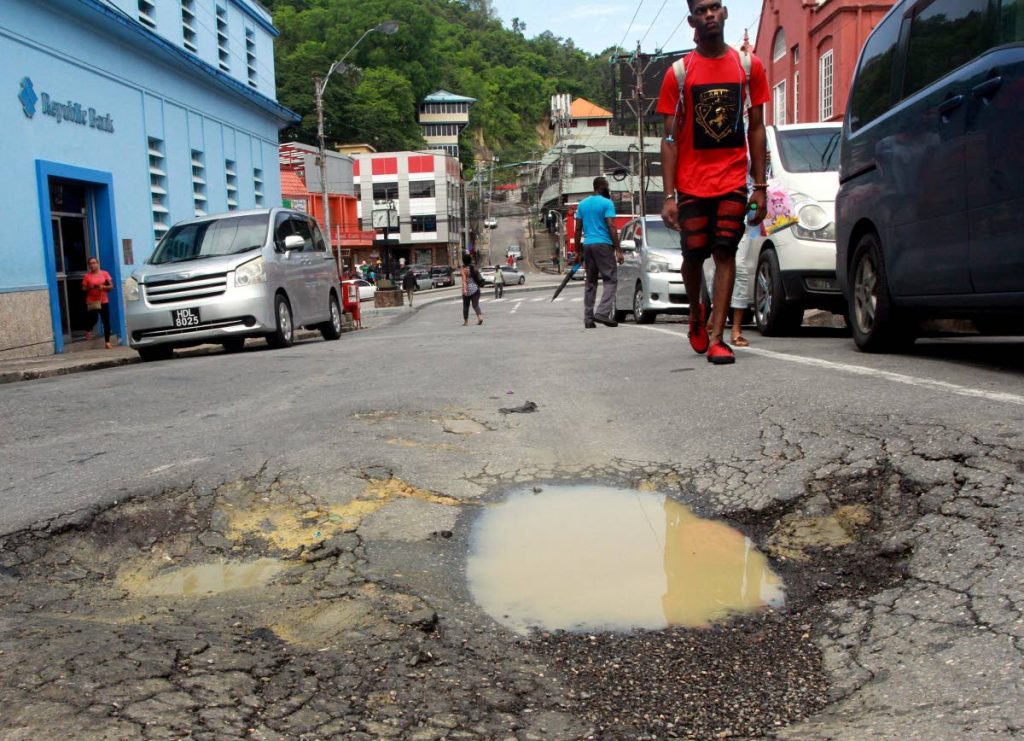
[[623,227],[618,241],[625,259],[618,266],[616,320],[632,313],[637,323],[646,324],[658,314],[688,313],[679,232],[660,216],[637,217]]

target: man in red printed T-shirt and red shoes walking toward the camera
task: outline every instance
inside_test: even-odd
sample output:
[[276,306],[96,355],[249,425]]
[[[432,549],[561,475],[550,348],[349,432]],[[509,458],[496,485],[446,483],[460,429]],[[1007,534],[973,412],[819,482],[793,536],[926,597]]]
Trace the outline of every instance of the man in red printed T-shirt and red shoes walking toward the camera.
[[[764,64],[725,43],[729,11],[720,0],[687,0],[697,48],[683,60],[683,95],[675,64],[666,72],[657,112],[665,116],[662,217],[682,232],[683,280],[690,302],[690,346],[716,364],[735,362],[722,340],[736,275],[736,248],[743,220],[765,217]],[[746,108],[749,126],[743,131]],[[754,190],[748,203],[748,148]],[[715,259],[714,310],[700,303],[703,261]],[[710,332],[709,332],[710,323]]]

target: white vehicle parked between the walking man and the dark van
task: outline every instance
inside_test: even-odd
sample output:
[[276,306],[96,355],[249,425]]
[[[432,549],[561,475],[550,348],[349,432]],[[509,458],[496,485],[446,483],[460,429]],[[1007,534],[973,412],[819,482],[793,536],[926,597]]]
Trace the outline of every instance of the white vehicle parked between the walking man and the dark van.
[[787,199],[797,221],[754,237],[748,253],[754,267],[754,317],[763,335],[796,330],[807,309],[846,311],[846,299],[836,280],[835,211],[842,129],[838,123],[766,127],[769,199]]

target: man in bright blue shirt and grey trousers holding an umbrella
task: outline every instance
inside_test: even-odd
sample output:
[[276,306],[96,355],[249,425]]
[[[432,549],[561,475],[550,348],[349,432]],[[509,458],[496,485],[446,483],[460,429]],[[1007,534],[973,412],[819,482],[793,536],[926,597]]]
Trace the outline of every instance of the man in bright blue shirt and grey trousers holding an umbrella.
[[[588,330],[596,326],[618,326],[611,315],[615,303],[615,285],[618,280],[617,264],[623,262],[615,228],[615,206],[611,203],[608,181],[594,178],[594,194],[580,202],[577,207],[577,262],[587,269],[587,284],[583,294],[583,322]],[[594,310],[597,298],[597,278],[604,284],[601,303]]]

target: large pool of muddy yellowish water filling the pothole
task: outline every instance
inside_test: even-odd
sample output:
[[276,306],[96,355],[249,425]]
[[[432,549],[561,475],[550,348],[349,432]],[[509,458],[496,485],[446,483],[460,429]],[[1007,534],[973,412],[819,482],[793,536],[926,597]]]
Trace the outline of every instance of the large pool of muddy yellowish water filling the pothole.
[[519,633],[702,626],[777,607],[750,538],[674,499],[597,486],[512,493],[473,526],[477,604]]

